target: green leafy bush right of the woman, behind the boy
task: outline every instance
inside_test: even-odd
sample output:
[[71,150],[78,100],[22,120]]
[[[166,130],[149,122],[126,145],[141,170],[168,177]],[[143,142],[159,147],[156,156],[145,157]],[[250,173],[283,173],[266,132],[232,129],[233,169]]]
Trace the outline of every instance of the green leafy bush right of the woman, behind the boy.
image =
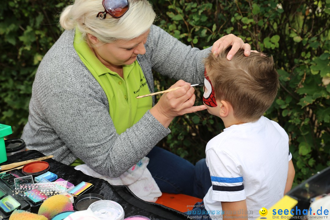
[[[153,1],[156,22],[192,47],[206,48],[234,34],[252,49],[273,55],[281,88],[265,116],[289,134],[296,169],[295,183],[330,166],[330,1]],[[167,10],[157,10],[167,7]],[[174,81],[171,81],[172,83]],[[157,75],[157,88],[166,89]],[[202,89],[197,89],[201,105]],[[182,157],[196,162],[207,141],[224,126],[208,112],[177,117],[162,141]]]

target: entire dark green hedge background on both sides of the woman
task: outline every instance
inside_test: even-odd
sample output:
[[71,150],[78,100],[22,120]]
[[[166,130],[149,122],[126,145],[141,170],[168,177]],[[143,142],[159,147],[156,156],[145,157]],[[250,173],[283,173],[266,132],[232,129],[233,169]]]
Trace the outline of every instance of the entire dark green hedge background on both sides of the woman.
[[[155,22],[192,47],[206,48],[235,34],[253,49],[272,54],[281,88],[265,116],[289,134],[295,184],[330,166],[330,0],[152,0]],[[0,2],[0,123],[20,137],[36,69],[62,33],[59,13],[68,0]],[[174,83],[155,73],[155,87]],[[196,89],[200,105],[202,89]],[[159,98],[159,97],[158,97]],[[206,111],[177,117],[159,143],[192,163],[223,124]]]

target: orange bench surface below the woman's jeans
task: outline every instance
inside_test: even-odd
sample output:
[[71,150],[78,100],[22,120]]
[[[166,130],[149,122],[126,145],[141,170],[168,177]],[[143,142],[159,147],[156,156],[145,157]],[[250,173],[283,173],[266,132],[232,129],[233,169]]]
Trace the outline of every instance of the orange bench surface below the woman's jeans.
[[165,205],[181,212],[186,212],[188,209],[191,210],[193,205],[197,202],[202,202],[202,199],[184,194],[170,193],[162,193],[162,196],[159,197],[156,201],[158,204]]

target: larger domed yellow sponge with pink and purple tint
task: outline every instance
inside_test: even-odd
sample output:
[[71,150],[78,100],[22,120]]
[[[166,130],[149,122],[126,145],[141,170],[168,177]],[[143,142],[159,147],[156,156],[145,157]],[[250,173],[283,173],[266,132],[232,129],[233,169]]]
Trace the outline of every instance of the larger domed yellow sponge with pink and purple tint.
[[38,214],[51,219],[55,215],[64,211],[73,211],[70,199],[64,195],[55,195],[49,197],[40,205]]

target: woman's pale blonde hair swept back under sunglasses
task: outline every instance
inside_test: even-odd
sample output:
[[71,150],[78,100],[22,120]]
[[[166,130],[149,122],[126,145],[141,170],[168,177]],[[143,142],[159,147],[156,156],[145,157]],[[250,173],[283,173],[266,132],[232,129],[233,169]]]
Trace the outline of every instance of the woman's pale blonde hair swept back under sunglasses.
[[107,14],[106,19],[100,19],[96,16],[101,11],[104,11],[102,0],[75,0],[63,10],[60,24],[65,30],[78,28],[85,41],[89,33],[103,43],[111,43],[140,36],[149,30],[156,17],[148,0],[129,0],[128,11],[120,18]]

